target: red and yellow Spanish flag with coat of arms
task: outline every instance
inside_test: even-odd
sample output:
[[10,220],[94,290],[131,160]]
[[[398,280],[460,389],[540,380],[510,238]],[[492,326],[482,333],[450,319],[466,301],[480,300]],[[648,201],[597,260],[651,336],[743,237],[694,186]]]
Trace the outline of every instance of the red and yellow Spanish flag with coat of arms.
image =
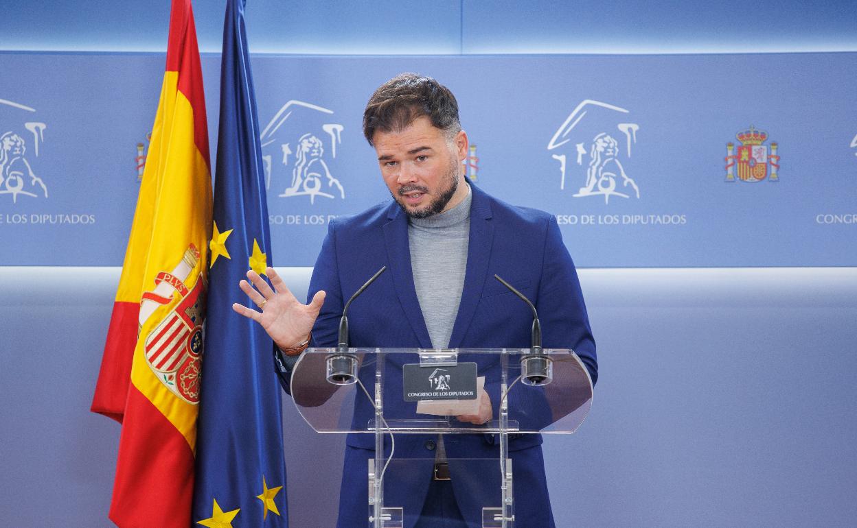
[[190,0],[173,0],[166,71],[93,412],[122,424],[110,519],[191,524],[211,168]]

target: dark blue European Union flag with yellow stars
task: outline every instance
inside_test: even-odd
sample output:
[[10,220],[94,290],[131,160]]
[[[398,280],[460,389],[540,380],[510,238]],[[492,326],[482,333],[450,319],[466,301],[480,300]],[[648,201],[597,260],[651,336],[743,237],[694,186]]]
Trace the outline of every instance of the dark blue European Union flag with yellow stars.
[[205,355],[193,520],[204,526],[288,526],[280,386],[273,343],[232,311],[248,268],[271,265],[265,180],[244,0],[229,0],[220,71]]

